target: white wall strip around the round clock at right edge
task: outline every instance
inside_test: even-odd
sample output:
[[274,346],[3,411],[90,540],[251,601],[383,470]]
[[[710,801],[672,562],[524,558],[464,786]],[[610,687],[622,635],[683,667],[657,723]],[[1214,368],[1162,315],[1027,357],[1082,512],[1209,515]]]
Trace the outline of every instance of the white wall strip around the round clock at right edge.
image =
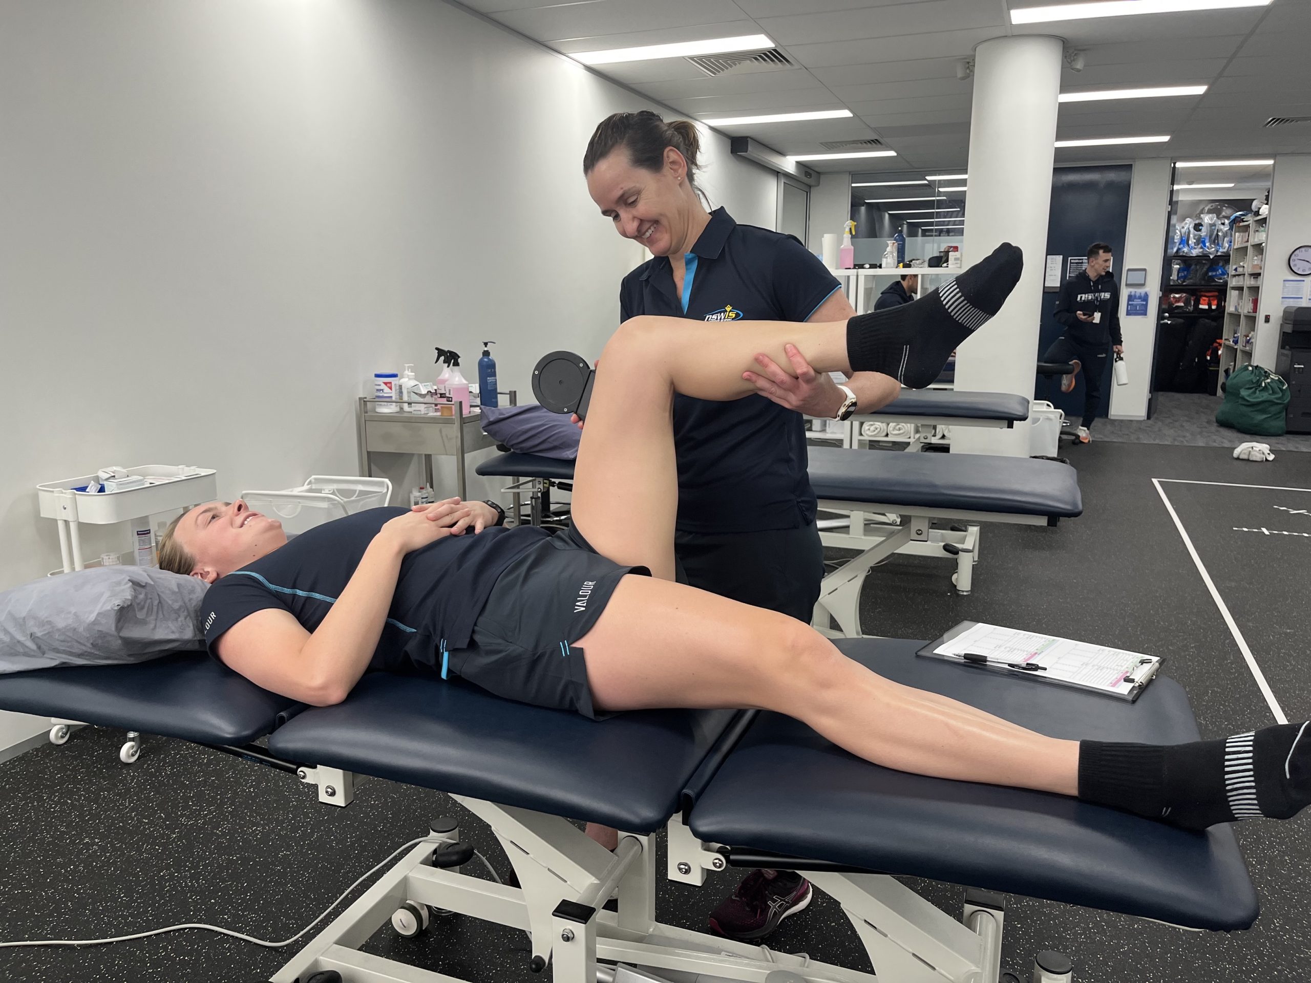
[[[1311,155],[1281,153],[1274,159],[1274,174],[1270,177],[1261,308],[1256,315],[1256,341],[1252,345],[1252,362],[1272,372],[1280,353],[1283,280],[1307,279],[1289,269],[1289,253],[1307,242],[1311,242]],[[1303,296],[1306,290],[1307,283],[1303,283]]]

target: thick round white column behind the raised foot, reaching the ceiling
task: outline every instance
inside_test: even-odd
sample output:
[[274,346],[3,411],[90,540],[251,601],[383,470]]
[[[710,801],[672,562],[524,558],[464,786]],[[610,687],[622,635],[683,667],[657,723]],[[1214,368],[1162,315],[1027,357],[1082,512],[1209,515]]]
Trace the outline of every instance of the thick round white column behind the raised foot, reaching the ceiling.
[[[1013,242],[1024,250],[1024,275],[1002,312],[961,345],[957,389],[1033,396],[1062,54],[1061,38],[1037,35],[974,50],[964,258],[969,265]],[[1027,456],[1028,427],[957,427],[952,450]]]

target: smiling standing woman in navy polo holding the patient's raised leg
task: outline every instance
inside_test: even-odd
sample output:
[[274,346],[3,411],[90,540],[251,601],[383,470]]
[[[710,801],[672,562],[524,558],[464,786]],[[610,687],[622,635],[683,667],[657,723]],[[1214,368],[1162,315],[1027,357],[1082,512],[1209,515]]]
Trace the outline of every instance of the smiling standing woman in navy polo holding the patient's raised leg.
[[[855,316],[836,278],[793,236],[707,211],[695,176],[699,139],[686,119],[616,113],[587,144],[587,190],[619,235],[654,256],[620,287],[620,320],[843,321]],[[823,578],[802,414],[847,419],[885,400],[895,380],[857,372],[839,385],[789,349],[796,376],[763,355],[747,372],[759,396],[674,397],[675,550],[694,587],[810,621]],[[780,796],[788,794],[784,789]],[[597,828],[591,835],[606,845]],[[712,928],[756,940],[810,902],[789,872],[755,872],[711,915]]]

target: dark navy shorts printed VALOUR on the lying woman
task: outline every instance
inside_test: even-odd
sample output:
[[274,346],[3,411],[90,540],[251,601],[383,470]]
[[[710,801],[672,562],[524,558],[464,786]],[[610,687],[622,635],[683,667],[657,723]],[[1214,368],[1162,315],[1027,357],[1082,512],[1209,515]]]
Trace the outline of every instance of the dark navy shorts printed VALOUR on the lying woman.
[[625,574],[572,526],[517,557],[497,578],[467,649],[452,649],[450,671],[507,700],[574,710],[600,720],[587,665],[574,646],[606,609]]

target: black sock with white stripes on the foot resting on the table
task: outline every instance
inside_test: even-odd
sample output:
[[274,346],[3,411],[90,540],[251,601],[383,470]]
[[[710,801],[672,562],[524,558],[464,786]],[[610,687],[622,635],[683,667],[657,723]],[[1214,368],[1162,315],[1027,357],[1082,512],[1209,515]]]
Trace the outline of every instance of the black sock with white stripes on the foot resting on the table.
[[1311,733],[1280,723],[1189,744],[1079,743],[1079,798],[1205,830],[1291,819],[1311,805]]

